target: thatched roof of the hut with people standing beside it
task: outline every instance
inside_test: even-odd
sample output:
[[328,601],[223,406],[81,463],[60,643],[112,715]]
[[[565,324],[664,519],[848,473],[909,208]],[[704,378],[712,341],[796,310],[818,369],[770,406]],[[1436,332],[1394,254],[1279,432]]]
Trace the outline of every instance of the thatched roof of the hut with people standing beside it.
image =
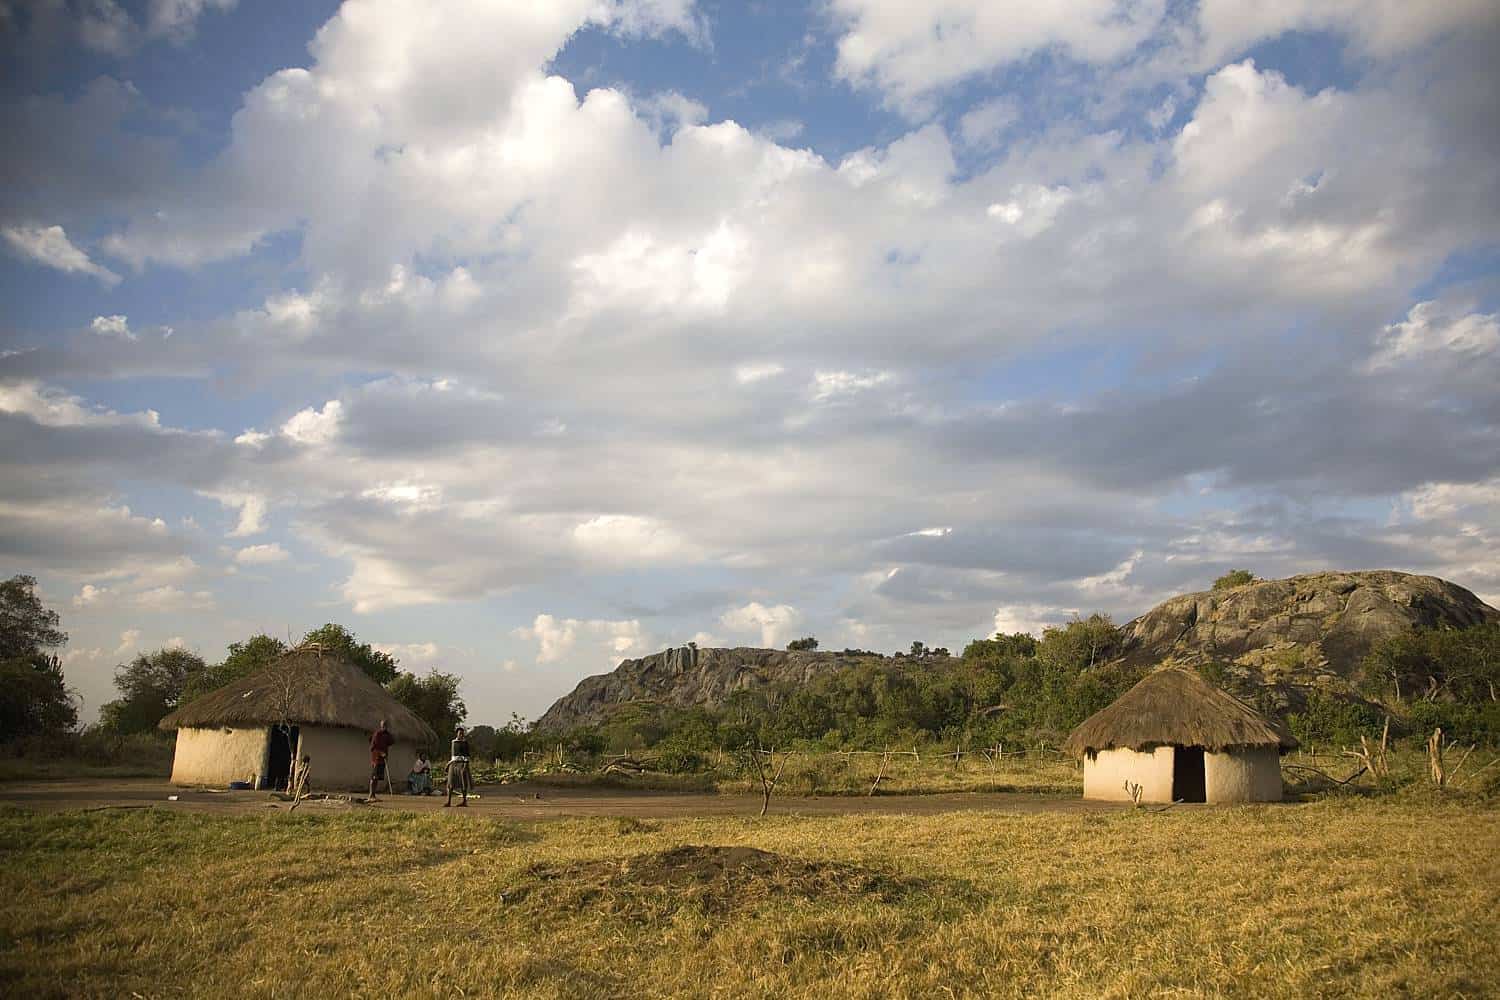
[[294,649],[273,666],[183,705],[162,729],[268,726],[285,717],[298,726],[374,732],[381,720],[402,742],[435,745],[438,735],[374,678],[344,657]]

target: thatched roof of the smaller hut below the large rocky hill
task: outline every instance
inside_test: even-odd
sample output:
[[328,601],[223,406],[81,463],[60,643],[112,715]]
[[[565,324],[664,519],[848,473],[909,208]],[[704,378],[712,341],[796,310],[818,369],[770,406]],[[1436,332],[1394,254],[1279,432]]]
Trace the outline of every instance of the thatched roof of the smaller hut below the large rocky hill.
[[1168,667],[1146,676],[1095,712],[1068,736],[1064,747],[1077,756],[1100,750],[1152,747],[1278,747],[1298,741],[1260,712],[1200,678],[1192,670]]

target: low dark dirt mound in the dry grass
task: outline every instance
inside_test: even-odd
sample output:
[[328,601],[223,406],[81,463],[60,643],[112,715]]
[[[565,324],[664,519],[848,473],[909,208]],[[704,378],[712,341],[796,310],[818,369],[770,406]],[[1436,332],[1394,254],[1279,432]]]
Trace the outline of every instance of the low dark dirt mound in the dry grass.
[[537,864],[506,900],[650,916],[680,909],[722,913],[777,898],[892,901],[924,889],[927,883],[918,879],[756,847],[675,847],[567,865]]

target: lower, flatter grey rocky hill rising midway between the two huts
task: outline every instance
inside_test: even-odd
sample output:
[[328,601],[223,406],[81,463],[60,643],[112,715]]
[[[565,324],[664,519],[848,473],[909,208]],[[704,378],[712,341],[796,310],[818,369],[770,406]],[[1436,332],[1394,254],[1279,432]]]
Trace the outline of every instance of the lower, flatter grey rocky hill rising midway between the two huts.
[[858,663],[834,652],[780,649],[699,649],[676,646],[639,660],[622,660],[612,673],[585,678],[537,720],[537,729],[567,730],[602,723],[620,705],[656,702],[718,708],[735,691],[776,684],[806,684],[819,673]]

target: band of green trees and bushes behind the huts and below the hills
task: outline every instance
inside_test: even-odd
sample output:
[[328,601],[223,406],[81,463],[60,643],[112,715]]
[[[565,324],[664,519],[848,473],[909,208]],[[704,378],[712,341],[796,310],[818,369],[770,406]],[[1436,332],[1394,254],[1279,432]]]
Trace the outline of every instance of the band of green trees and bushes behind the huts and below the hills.
[[[1234,571],[1221,582],[1242,586],[1254,577]],[[72,732],[78,723],[56,654],[68,636],[34,588],[28,576],[0,583],[0,742]],[[464,721],[466,708],[453,673],[404,672],[394,657],[338,624],[314,628],[302,642],[318,642],[346,657],[444,742]],[[790,646],[814,651],[818,640],[807,636]],[[94,729],[111,736],[154,733],[168,712],[255,673],[286,651],[282,640],[260,634],[231,643],[218,663],[186,649],[142,652],[117,669],[120,697],[102,706]],[[692,766],[708,750],[746,744],[868,750],[933,742],[1056,745],[1150,669],[1126,664],[1122,651],[1120,628],[1107,615],[1090,615],[1047,628],[1040,639],[1026,633],[976,639],[958,657],[921,642],[892,657],[846,649],[837,654],[846,661],[842,670],[800,685],[735,691],[717,708],[630,703],[600,726],[570,733],[534,733],[513,715],[501,727],[471,727],[470,739],[474,753],[486,759],[514,759],[561,742],[592,754],[648,748],[681,766]],[[1233,688],[1227,664],[1204,663],[1198,670]],[[1264,693],[1242,694],[1262,709],[1274,709],[1262,700]],[[1386,717],[1408,732],[1442,726],[1461,742],[1500,745],[1500,624],[1418,628],[1382,639],[1350,678],[1350,691],[1302,691],[1286,721],[1305,742],[1353,744],[1360,733],[1378,733]]]

